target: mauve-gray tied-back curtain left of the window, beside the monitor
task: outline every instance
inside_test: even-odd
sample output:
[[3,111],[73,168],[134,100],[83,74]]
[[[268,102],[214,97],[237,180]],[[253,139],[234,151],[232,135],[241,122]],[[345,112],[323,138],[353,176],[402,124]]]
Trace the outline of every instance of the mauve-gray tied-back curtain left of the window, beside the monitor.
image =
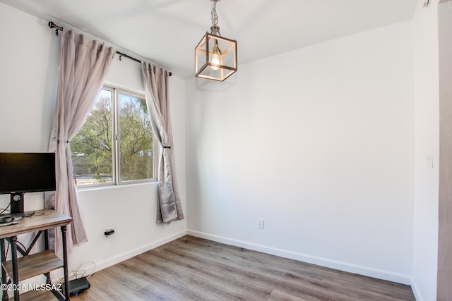
[[[57,103],[49,142],[49,152],[55,152],[57,158],[57,190],[45,196],[45,207],[73,218],[68,228],[68,252],[73,245],[88,240],[73,183],[70,141],[85,123],[115,54],[112,47],[105,47],[72,30],[64,30],[61,36]],[[54,235],[55,254],[60,255],[61,233],[55,231]]]

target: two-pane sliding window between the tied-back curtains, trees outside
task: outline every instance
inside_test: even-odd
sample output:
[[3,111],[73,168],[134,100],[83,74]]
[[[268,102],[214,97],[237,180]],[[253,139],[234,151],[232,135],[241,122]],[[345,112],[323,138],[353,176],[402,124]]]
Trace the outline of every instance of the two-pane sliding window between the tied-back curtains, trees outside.
[[103,87],[71,140],[78,187],[153,179],[153,131],[145,96]]

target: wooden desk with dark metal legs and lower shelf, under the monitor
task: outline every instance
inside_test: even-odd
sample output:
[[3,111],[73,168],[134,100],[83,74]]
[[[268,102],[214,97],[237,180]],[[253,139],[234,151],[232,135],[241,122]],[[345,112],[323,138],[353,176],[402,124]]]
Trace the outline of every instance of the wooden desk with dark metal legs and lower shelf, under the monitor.
[[[71,223],[72,218],[50,209],[36,211],[34,215],[24,217],[20,223],[10,226],[0,227],[0,251],[1,263],[4,269],[1,270],[2,283],[6,283],[6,275],[12,275],[13,288],[18,287],[19,281],[44,274],[47,278],[47,284],[51,283],[50,271],[54,269],[64,269],[64,285],[66,295],[61,291],[52,290],[55,297],[59,300],[69,300],[69,277],[68,277],[68,259],[66,250],[66,226]],[[63,261],[55,254],[49,251],[48,233],[49,228],[61,228]],[[17,245],[17,235],[29,232],[37,232],[35,238],[29,247],[23,250]],[[44,233],[44,251],[35,254],[28,254],[37,238]],[[6,262],[5,240],[11,243],[11,260]],[[17,258],[17,252],[23,254],[23,257]],[[6,271],[5,271],[6,270]],[[7,274],[6,274],[7,273]],[[8,291],[3,290],[2,300],[8,300]],[[14,290],[14,300],[20,300],[19,290]]]

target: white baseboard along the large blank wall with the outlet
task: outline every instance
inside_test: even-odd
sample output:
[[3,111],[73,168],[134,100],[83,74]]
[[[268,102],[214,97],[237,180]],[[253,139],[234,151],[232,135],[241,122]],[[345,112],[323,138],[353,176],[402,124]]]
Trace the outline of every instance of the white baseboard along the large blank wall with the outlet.
[[302,254],[299,252],[292,252],[290,250],[278,249],[275,247],[268,247],[266,245],[258,245],[253,242],[246,242],[243,240],[235,240],[232,238],[225,238],[218,235],[213,235],[209,233],[203,233],[199,231],[187,230],[188,235],[196,236],[198,238],[204,238],[207,240],[213,240],[215,242],[225,243],[227,245],[234,245],[236,247],[244,247],[248,250],[254,250],[258,252],[263,252],[267,254],[276,255],[279,257],[285,257],[290,259],[298,260],[299,262],[307,262],[309,264],[316,264],[319,266],[326,266],[332,269],[338,269],[341,271],[347,271],[354,274],[379,278],[387,281],[393,281],[396,283],[402,283],[406,285],[411,285],[412,281],[410,276],[394,273],[392,271],[384,271],[381,269],[374,269],[368,266],[359,266],[357,264],[351,264],[349,262],[339,262],[332,259],[316,257],[309,254]]

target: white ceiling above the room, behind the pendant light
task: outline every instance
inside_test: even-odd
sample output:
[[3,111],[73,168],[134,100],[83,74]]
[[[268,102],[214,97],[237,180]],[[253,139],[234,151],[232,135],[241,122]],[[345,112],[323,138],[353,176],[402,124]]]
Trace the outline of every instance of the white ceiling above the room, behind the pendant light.
[[[42,20],[74,27],[194,76],[194,47],[210,29],[209,0],[0,0]],[[221,0],[220,32],[247,63],[412,18],[417,0]]]

